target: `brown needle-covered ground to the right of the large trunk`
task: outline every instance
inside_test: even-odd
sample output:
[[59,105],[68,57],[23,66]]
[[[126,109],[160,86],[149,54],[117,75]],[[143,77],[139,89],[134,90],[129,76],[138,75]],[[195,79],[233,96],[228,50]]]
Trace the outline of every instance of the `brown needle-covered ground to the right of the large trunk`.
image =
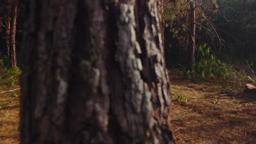
[[256,143],[256,95],[243,88],[237,82],[171,77],[170,119],[177,143]]

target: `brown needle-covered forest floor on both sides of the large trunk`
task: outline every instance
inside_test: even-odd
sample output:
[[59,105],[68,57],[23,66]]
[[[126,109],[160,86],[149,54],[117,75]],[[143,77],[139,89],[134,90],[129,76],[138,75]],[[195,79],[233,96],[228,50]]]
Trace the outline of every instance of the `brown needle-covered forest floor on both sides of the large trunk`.
[[[19,143],[16,81],[0,77],[0,143]],[[9,78],[8,78],[9,77]],[[16,77],[18,79],[18,77]],[[238,82],[184,80],[170,76],[170,121],[177,143],[256,143],[256,95]],[[4,92],[4,93],[3,93]]]

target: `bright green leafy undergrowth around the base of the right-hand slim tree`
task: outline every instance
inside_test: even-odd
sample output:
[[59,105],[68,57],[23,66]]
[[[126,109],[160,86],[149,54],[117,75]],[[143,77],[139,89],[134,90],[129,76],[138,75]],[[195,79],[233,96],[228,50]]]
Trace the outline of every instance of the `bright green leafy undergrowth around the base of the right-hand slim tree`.
[[236,79],[255,82],[245,71],[239,71],[232,64],[220,61],[210,50],[206,44],[198,47],[193,71],[181,68],[184,79]]

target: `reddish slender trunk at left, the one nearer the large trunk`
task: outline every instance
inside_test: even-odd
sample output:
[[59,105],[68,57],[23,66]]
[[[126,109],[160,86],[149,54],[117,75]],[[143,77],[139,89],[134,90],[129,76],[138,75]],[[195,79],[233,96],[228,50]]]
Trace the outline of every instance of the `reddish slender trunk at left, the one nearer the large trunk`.
[[10,35],[9,35],[9,64],[11,67],[17,66],[16,61],[16,45],[15,45],[15,36],[16,36],[16,19],[18,14],[18,1],[14,0],[12,3],[11,13],[10,13]]

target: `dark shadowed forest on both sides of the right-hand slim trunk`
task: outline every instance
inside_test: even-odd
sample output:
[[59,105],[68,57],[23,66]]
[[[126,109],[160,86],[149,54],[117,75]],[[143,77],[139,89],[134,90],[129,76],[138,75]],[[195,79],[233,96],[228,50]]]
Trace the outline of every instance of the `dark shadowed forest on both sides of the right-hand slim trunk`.
[[[196,46],[207,44],[223,61],[255,63],[256,1],[196,2]],[[166,1],[164,17],[167,64],[185,64],[189,3]]]

